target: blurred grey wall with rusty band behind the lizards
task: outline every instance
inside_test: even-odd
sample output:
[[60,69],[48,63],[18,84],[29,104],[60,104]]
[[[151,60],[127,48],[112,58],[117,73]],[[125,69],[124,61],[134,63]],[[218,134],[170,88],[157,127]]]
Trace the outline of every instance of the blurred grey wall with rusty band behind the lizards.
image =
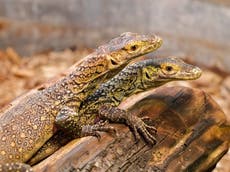
[[230,71],[229,0],[0,0],[0,48],[20,55],[95,48],[125,31],[159,34],[158,54]]

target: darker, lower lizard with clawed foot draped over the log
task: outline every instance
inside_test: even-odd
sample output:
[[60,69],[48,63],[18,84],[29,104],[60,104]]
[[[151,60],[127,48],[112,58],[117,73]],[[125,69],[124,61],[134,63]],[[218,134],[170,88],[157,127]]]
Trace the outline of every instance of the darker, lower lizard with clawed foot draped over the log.
[[201,70],[175,57],[148,59],[124,68],[111,80],[103,83],[92,95],[81,103],[76,113],[65,108],[56,117],[57,125],[75,137],[93,135],[97,131],[111,128],[104,123],[96,123],[97,118],[112,122],[125,122],[134,131],[134,136],[150,144],[155,144],[153,133],[156,129],[148,126],[142,119],[118,109],[125,98],[151,88],[159,87],[169,81],[192,80],[201,76]]

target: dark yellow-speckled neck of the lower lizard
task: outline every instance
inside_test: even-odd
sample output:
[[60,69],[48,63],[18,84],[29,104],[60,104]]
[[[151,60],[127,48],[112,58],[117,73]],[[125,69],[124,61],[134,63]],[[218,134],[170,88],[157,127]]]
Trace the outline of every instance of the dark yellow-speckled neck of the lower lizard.
[[141,69],[137,68],[138,66],[129,66],[126,70],[121,71],[114,78],[102,84],[81,103],[81,113],[96,113],[102,104],[117,106],[126,97],[142,91],[142,83],[139,78]]

